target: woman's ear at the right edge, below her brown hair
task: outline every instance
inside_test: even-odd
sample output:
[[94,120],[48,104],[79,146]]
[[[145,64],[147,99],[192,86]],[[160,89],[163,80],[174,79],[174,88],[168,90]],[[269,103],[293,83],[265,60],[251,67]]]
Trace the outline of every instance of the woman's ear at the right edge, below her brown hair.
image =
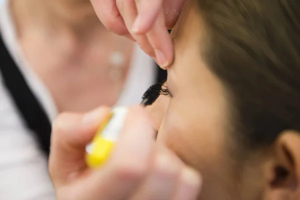
[[268,199],[300,199],[300,133],[283,131],[274,145]]

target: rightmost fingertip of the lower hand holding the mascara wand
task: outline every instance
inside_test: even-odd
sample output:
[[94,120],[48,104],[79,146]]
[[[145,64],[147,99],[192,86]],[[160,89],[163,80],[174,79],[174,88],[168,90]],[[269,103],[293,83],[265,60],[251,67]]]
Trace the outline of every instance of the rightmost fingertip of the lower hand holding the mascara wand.
[[193,169],[185,167],[180,174],[176,193],[172,200],[193,200],[197,198],[201,189],[200,175]]

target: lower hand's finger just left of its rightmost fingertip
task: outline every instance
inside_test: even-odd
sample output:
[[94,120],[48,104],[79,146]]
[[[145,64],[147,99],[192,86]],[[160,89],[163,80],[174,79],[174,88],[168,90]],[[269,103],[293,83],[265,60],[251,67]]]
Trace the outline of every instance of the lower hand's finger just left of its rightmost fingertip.
[[157,153],[151,172],[132,200],[171,199],[182,168],[183,164],[172,153],[166,150]]

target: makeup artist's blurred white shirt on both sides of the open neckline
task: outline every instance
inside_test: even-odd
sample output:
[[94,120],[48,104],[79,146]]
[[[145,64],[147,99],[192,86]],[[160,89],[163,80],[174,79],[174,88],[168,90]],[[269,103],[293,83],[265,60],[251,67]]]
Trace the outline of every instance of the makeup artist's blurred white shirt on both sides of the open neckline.
[[[21,53],[8,4],[8,0],[0,0],[0,34],[28,86],[52,121],[57,115],[56,105]],[[153,64],[152,59],[136,45],[127,80],[116,105],[140,102],[142,93],[155,82],[156,68]],[[47,159],[33,135],[25,126],[0,73],[0,199],[55,199]]]

